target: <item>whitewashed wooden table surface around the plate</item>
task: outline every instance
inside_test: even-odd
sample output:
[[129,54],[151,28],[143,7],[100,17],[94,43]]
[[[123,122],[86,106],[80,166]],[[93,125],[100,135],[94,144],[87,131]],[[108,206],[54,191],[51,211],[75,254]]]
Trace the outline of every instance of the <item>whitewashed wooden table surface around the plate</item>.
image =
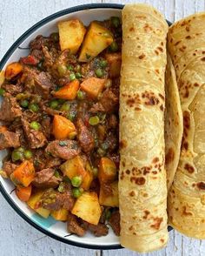
[[[204,0],[0,0],[0,58],[11,44],[43,17],[83,3],[151,3],[173,22],[181,17],[205,10]],[[0,256],[132,256],[129,250],[95,251],[68,246],[46,237],[21,219],[0,194]],[[188,239],[178,232],[169,232],[169,245],[149,256],[204,256],[205,241]]]

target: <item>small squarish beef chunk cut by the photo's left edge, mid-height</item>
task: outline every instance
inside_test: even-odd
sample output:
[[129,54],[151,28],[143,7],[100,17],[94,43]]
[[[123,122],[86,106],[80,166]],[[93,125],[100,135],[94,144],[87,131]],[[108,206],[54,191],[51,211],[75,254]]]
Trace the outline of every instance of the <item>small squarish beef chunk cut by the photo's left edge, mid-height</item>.
[[0,150],[18,146],[20,146],[20,140],[17,133],[12,131],[3,131],[0,133]]

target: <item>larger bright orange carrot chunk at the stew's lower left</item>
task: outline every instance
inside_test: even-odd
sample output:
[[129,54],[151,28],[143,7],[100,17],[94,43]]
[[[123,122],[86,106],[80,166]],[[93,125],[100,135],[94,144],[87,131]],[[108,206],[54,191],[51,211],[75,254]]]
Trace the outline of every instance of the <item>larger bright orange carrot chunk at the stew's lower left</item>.
[[34,165],[28,160],[23,161],[23,163],[10,174],[10,179],[15,185],[28,186],[34,180],[34,178]]

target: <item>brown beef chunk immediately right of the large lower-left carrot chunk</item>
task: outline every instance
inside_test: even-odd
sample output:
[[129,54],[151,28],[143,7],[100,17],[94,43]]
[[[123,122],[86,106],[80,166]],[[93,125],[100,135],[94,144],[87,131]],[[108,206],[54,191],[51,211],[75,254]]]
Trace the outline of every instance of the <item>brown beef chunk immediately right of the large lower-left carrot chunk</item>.
[[36,172],[36,177],[32,184],[36,187],[50,188],[59,185],[61,179],[54,176],[55,170],[52,168],[43,169],[40,172]]

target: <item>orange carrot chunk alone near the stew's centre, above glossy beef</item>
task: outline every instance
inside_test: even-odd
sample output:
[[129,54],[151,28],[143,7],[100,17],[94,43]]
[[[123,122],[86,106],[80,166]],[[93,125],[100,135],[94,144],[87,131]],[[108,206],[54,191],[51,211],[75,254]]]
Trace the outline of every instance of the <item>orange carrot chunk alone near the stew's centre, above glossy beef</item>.
[[75,125],[67,118],[55,115],[53,119],[53,135],[56,139],[68,138],[69,133],[76,131]]

